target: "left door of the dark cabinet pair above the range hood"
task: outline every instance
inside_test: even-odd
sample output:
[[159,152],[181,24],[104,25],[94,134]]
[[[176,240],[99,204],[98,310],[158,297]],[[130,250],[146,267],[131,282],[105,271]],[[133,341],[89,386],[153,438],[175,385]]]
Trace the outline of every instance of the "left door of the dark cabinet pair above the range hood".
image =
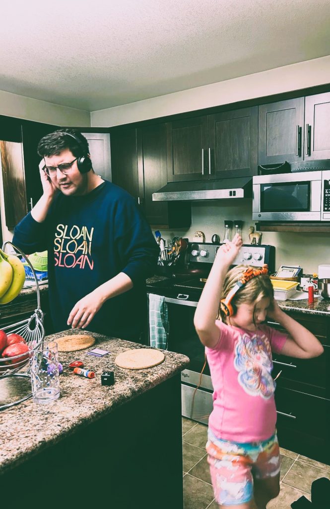
[[167,181],[208,179],[207,116],[167,123]]

